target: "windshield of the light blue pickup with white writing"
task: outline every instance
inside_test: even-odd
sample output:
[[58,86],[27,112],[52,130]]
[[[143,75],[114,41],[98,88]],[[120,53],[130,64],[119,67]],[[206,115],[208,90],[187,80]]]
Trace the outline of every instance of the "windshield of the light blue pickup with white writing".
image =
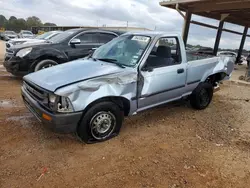
[[98,48],[92,55],[95,59],[110,59],[117,64],[134,67],[150,42],[150,37],[125,35],[113,39]]

